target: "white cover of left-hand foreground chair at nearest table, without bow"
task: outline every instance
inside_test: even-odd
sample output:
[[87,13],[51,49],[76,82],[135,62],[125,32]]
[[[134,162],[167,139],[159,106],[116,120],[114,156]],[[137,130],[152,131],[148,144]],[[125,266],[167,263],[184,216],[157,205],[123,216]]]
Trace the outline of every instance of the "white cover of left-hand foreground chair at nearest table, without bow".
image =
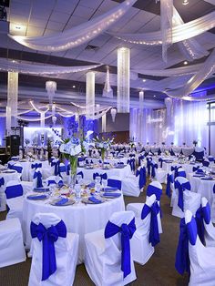
[[[56,226],[60,218],[54,213],[37,213],[33,222],[38,225],[42,223],[45,228]],[[42,279],[43,264],[43,243],[36,238],[32,240],[31,254],[32,263],[29,276],[29,286],[56,286],[73,284],[77,267],[77,250],[79,236],[75,233],[68,233],[67,238],[58,237],[55,242],[56,271],[46,281]]]

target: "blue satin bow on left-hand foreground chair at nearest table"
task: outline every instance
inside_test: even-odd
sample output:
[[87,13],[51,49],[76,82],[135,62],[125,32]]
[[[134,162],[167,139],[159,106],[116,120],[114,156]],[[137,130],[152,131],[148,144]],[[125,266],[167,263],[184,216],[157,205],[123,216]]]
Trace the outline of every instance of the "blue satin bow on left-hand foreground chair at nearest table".
[[43,266],[42,266],[42,281],[46,281],[50,275],[56,271],[56,250],[55,242],[58,237],[67,237],[67,228],[63,220],[60,220],[56,226],[46,227],[39,223],[36,225],[31,222],[31,236],[43,242]]

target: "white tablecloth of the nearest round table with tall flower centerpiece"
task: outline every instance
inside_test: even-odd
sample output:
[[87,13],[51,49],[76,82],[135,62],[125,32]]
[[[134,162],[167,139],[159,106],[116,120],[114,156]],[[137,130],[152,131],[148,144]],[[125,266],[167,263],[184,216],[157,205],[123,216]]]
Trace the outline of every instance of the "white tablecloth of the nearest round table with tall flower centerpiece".
[[117,199],[108,199],[101,204],[84,204],[79,202],[74,205],[59,207],[50,205],[49,199],[29,200],[25,198],[23,206],[23,230],[26,249],[30,249],[30,223],[36,213],[55,213],[65,222],[68,232],[79,234],[78,263],[82,263],[85,258],[85,234],[105,228],[112,213],[122,210],[125,210],[123,195]]

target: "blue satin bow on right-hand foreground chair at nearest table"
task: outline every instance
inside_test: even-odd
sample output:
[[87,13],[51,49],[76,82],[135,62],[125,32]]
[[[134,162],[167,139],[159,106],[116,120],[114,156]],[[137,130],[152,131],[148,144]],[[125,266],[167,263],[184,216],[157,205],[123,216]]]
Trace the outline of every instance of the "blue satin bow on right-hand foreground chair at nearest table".
[[128,274],[131,272],[129,240],[132,238],[135,230],[136,230],[135,218],[131,220],[128,225],[126,223],[123,223],[121,227],[118,227],[118,225],[112,223],[111,221],[108,221],[105,229],[106,239],[114,236],[118,232],[121,233],[121,248],[122,248],[121,271],[123,271],[124,273],[124,278],[126,278]]

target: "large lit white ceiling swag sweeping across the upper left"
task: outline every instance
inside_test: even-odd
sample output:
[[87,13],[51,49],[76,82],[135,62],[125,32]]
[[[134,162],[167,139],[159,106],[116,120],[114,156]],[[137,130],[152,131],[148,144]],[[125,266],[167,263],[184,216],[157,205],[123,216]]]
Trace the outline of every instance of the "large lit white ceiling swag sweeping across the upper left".
[[125,0],[107,13],[99,15],[86,23],[75,26],[63,33],[51,36],[12,36],[16,42],[23,46],[46,52],[58,52],[88,43],[96,36],[104,33],[110,26],[116,25],[128,9],[137,0]]

